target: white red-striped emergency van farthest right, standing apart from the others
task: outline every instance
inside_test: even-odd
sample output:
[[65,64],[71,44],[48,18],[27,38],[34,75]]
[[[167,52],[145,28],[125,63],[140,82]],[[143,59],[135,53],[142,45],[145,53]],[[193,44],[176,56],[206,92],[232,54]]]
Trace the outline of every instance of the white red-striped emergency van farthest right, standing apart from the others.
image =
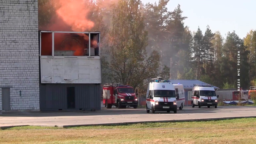
[[192,107],[198,106],[214,106],[217,108],[218,105],[218,97],[216,95],[214,87],[211,85],[198,85],[194,84],[192,95],[191,95],[191,104]]

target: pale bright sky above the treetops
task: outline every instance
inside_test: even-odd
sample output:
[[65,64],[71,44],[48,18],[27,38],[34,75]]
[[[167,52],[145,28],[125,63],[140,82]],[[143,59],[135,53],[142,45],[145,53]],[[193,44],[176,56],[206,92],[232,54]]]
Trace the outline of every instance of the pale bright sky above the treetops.
[[[158,0],[142,0],[142,3],[155,3]],[[170,0],[168,11],[180,4],[184,21],[191,31],[198,26],[204,33],[207,25],[212,32],[220,31],[225,37],[228,31],[235,31],[240,38],[246,37],[250,30],[256,30],[256,0]]]

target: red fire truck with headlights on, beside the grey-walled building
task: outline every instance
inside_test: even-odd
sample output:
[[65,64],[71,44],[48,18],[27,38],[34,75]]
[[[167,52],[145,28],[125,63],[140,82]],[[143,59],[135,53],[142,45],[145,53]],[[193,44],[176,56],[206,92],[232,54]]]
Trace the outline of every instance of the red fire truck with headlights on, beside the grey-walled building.
[[127,106],[137,109],[138,98],[136,95],[138,95],[137,89],[135,94],[131,86],[106,83],[103,86],[103,105],[107,109],[111,109],[112,106],[116,106],[118,109],[125,109]]

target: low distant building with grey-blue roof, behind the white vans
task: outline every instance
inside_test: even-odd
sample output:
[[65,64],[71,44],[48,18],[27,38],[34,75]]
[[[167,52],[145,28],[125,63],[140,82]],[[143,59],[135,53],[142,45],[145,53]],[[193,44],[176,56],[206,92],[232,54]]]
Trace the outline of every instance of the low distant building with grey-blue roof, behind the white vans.
[[[173,84],[182,84],[185,91],[185,106],[191,106],[191,95],[194,84],[206,85],[207,83],[201,82],[200,80],[171,80]],[[214,89],[219,89],[214,86]]]

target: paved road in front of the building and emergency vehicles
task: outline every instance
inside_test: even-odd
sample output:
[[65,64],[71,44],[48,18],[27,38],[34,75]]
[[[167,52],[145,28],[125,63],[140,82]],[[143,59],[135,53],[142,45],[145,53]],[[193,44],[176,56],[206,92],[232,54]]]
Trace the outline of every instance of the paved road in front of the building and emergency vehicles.
[[109,124],[138,121],[194,120],[223,117],[256,117],[256,107],[219,106],[215,108],[184,107],[177,114],[161,112],[146,113],[143,109],[102,109],[98,113],[82,112],[19,112],[19,115],[0,115],[0,126],[44,125],[67,126],[87,124]]

